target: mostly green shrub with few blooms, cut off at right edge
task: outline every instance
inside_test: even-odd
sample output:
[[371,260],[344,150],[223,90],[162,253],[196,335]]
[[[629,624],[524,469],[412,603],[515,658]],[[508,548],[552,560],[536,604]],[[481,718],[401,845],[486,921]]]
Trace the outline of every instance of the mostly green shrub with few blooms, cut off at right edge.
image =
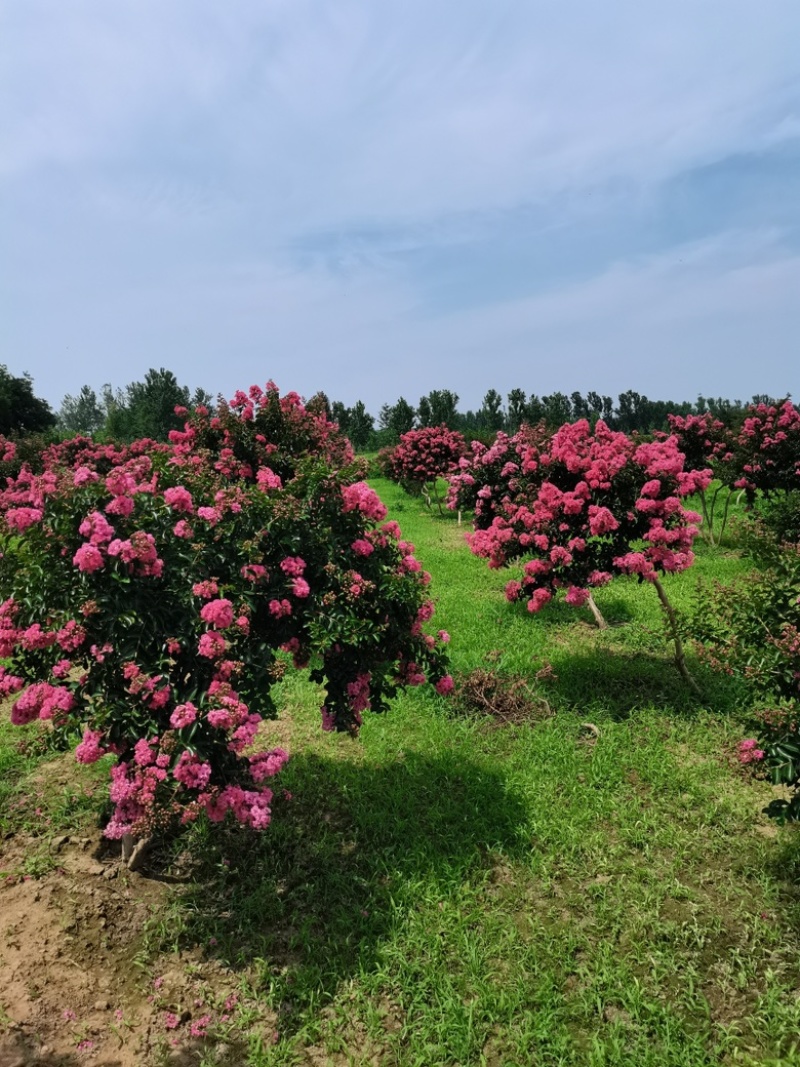
[[[739,745],[742,763],[758,763],[793,791],[767,811],[800,818],[800,544],[781,543],[753,523],[743,546],[758,570],[734,585],[703,588],[692,632],[704,658],[745,679],[757,737]],[[763,763],[762,763],[763,761]]]

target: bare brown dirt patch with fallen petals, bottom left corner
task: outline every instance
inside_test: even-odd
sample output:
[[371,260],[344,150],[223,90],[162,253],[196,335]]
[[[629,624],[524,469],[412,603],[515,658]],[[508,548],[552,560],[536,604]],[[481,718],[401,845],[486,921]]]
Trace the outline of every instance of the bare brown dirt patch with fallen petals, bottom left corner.
[[238,976],[198,950],[142,954],[174,886],[128,872],[99,831],[54,838],[41,878],[21,874],[25,848],[0,842],[0,1067],[243,1062]]

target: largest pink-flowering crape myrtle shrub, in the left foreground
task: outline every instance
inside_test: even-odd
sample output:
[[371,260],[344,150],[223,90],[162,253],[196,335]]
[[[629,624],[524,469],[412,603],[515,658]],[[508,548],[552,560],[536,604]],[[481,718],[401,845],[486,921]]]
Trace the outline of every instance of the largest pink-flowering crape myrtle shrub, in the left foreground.
[[269,823],[278,650],[324,686],[326,730],[452,685],[429,575],[324,414],[269,383],[170,437],[65,442],[0,493],[0,695],[15,723],[77,728],[79,761],[116,755],[105,832],[127,840]]

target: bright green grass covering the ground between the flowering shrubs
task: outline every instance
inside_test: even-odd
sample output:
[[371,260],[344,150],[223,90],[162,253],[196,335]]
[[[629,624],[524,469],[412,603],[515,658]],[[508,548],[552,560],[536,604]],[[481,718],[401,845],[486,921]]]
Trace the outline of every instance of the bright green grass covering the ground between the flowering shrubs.
[[[252,1067],[800,1064],[800,848],[733,759],[741,691],[698,664],[703,698],[687,690],[649,587],[598,592],[604,633],[564,605],[531,617],[454,516],[375,484],[457,675],[522,676],[553,714],[498,729],[414,689],[353,742],[289,674],[273,730],[292,796],[255,840],[192,830],[195,876],[145,968],[199,947],[238,972],[277,1019],[273,1044],[238,1018]],[[669,592],[686,610],[698,574],[742,570],[701,545]],[[6,801],[35,776],[10,739]]]

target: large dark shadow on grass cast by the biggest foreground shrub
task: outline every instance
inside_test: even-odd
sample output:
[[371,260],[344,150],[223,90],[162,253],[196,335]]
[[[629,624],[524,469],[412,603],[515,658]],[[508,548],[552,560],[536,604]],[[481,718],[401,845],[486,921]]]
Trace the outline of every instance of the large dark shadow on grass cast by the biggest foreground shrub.
[[282,785],[294,795],[276,798],[262,835],[198,828],[202,869],[163,937],[229,967],[255,964],[284,1028],[378,966],[381,944],[420,902],[491,867],[493,848],[525,847],[522,800],[459,753],[410,752],[385,766],[303,754]]

